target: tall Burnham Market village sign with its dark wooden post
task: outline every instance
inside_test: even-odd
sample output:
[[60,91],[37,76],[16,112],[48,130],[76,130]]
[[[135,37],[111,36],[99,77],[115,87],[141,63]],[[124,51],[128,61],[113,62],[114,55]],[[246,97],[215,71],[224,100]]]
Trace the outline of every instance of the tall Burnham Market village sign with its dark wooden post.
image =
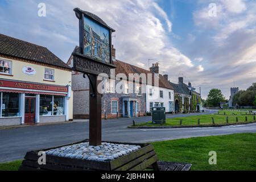
[[101,145],[101,97],[97,86],[97,76],[105,73],[110,77],[110,69],[115,65],[112,61],[112,32],[98,16],[74,9],[79,19],[79,42],[77,52],[73,52],[73,71],[84,73],[90,81],[89,94],[89,145]]

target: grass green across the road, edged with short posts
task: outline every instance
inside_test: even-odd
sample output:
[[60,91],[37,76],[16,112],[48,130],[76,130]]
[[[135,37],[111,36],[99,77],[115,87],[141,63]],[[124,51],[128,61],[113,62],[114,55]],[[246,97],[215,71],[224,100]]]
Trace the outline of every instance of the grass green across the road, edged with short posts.
[[[183,126],[198,126],[198,119],[200,119],[200,125],[208,126],[212,125],[212,118],[214,118],[214,123],[216,125],[221,125],[226,123],[227,115],[217,115],[217,114],[207,114],[207,115],[192,115],[189,117],[181,118],[167,118],[166,123],[163,125],[155,124],[150,122],[136,123],[135,126],[180,126],[180,119],[182,119]],[[236,117],[238,117],[239,123],[246,123],[245,117],[247,117],[248,122],[254,120],[253,115],[228,115],[229,123],[236,123]]]

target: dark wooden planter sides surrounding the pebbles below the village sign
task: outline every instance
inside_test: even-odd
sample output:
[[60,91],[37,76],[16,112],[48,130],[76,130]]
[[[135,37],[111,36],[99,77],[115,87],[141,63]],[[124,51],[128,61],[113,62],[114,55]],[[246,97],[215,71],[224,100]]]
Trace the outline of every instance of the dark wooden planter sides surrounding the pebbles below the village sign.
[[[72,144],[79,144],[84,142],[88,142],[88,139]],[[38,159],[40,158],[40,156],[38,156],[38,152],[48,151],[64,146],[47,148],[38,151],[30,151],[27,152],[27,154],[24,156],[24,160],[19,168],[19,171],[142,171],[150,166],[152,166],[156,171],[159,170],[157,163],[158,157],[156,156],[154,148],[151,144],[119,142],[108,143],[137,145],[141,146],[141,148],[137,151],[131,152],[130,154],[121,156],[118,159],[106,160],[105,162],[72,159],[46,154],[46,165],[38,164]],[[65,146],[70,146],[72,144],[67,144]]]

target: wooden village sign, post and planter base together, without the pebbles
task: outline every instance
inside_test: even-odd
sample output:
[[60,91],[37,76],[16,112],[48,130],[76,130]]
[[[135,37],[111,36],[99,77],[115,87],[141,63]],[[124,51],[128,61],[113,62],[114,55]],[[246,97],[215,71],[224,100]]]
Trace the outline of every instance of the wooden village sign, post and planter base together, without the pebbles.
[[[100,73],[106,73],[110,77],[110,69],[115,65],[112,61],[112,32],[110,28],[98,16],[74,9],[76,17],[79,19],[79,51],[73,52],[73,71],[84,73],[90,81],[89,94],[89,140],[78,143],[72,143],[65,146],[58,146],[38,151],[27,152],[20,170],[103,170],[103,171],[142,171],[148,167],[159,170],[158,157],[155,154],[151,144],[135,144],[141,146],[130,154],[123,155],[114,160],[104,162],[84,159],[72,159],[54,155],[46,155],[46,164],[38,163],[39,151],[48,151],[60,147],[67,147],[73,144],[89,142],[90,146],[101,145],[101,97],[102,94],[97,92],[97,85],[100,81],[97,76]],[[113,144],[130,144],[108,142]]]

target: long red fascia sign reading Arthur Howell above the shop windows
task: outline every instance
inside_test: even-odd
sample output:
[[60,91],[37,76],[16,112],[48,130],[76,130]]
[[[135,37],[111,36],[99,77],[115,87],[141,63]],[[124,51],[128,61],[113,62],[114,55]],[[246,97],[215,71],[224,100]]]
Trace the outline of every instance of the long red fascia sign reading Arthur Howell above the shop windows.
[[54,92],[68,92],[67,86],[55,86],[44,84],[32,84],[27,82],[0,80],[0,87],[32,89],[32,90],[47,90]]

